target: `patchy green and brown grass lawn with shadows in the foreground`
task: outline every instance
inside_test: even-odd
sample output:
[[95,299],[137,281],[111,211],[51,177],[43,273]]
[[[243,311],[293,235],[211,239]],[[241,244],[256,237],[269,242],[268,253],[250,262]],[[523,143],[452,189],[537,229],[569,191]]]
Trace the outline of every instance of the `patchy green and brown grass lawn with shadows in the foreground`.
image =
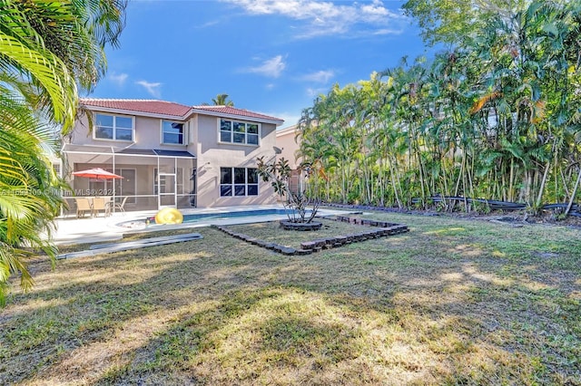
[[580,229],[369,217],[410,232],[282,256],[202,228],[38,258],[0,310],[0,384],[581,384]]

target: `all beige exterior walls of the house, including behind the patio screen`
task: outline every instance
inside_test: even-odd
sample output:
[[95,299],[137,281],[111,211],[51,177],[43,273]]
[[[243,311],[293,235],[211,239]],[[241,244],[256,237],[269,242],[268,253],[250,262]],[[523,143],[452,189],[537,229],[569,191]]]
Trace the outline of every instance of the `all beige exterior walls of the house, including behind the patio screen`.
[[[117,113],[114,111],[103,111],[103,114],[133,117],[133,141],[127,140],[100,140],[94,139],[94,133],[89,132],[89,125],[86,116],[76,122],[73,133],[68,140],[73,145],[84,145],[86,151],[99,151],[97,149],[113,147],[116,150],[128,148],[130,150],[179,150],[189,151],[196,159],[178,159],[182,168],[182,186],[184,192],[191,190],[192,169],[196,169],[196,207],[231,207],[245,205],[271,204],[276,202],[276,196],[271,188],[270,182],[259,181],[259,195],[246,197],[224,197],[220,196],[221,168],[256,168],[258,157],[264,156],[271,159],[275,153],[273,147],[276,146],[276,125],[273,123],[259,123],[259,146],[222,143],[220,138],[220,118],[210,115],[193,115],[189,121],[183,122],[186,128],[186,144],[184,145],[163,145],[162,141],[162,120],[175,121],[171,118],[163,117],[143,117]],[[227,118],[230,121],[243,121],[257,123],[256,121],[244,120],[243,118]],[[182,122],[182,121],[180,121]],[[135,157],[123,154],[115,154],[114,169],[134,169],[135,170],[135,195],[142,195],[135,198],[128,204],[129,210],[153,208],[157,204],[155,199],[154,176],[158,160],[155,157]],[[89,169],[100,167],[103,169],[113,169],[113,158],[111,155],[76,154],[67,155],[68,173],[73,169]],[[165,163],[165,162],[164,162]],[[163,169],[162,169],[163,171]],[[89,180],[82,178],[72,179],[72,186],[75,191],[88,191]],[[108,183],[107,188],[113,186],[113,181]],[[117,194],[117,193],[116,193]],[[75,194],[76,195],[76,194]],[[80,194],[79,194],[80,195]],[[152,197],[153,196],[153,197]],[[187,197],[178,198],[178,207],[188,207]]]

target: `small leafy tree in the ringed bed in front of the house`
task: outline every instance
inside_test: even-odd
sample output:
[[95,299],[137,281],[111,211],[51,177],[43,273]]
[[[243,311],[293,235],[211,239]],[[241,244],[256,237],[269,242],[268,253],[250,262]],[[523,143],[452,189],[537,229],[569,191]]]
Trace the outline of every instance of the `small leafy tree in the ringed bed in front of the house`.
[[[291,189],[291,167],[287,159],[281,158],[278,161],[265,161],[264,157],[259,157],[258,174],[264,182],[271,181],[274,192],[279,195],[283,206],[287,210],[289,221],[293,223],[310,223],[317,215],[320,206],[320,199],[316,194],[316,188],[307,193],[306,184],[303,187],[302,178],[309,179],[313,169],[310,165],[301,164],[299,166],[299,184],[296,191]],[[310,195],[314,197],[310,197]],[[312,211],[307,216],[307,207],[312,207]]]

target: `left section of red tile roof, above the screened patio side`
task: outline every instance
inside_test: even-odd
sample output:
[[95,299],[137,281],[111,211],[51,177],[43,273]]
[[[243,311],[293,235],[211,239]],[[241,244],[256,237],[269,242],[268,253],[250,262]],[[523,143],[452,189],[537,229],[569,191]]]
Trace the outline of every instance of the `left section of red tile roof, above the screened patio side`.
[[89,99],[79,100],[87,107],[103,107],[106,109],[148,112],[151,114],[173,115],[182,118],[192,108],[172,101],[131,100],[131,99]]

